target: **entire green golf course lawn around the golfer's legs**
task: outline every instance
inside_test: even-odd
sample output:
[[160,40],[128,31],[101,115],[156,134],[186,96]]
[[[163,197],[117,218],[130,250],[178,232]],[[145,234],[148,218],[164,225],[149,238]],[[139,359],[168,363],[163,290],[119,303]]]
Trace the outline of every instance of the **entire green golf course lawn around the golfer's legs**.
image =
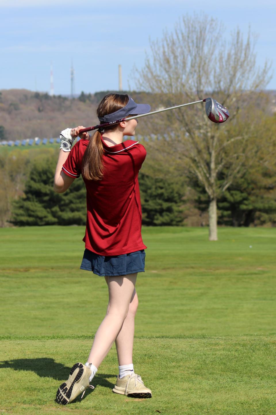
[[[143,228],[134,369],[153,398],[111,391],[113,347],[94,391],[61,407],[55,391],[86,361],[108,300],[79,270],[84,227],[0,229],[0,412],[276,414],[276,229]],[[250,248],[252,246],[252,248]]]

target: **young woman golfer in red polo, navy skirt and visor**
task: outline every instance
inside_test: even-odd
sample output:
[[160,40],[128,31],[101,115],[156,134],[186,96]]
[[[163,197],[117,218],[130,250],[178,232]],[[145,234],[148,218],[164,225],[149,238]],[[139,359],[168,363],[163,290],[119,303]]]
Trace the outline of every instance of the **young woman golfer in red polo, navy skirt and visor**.
[[[150,106],[136,104],[128,95],[108,94],[97,109],[100,123],[149,112]],[[61,146],[55,171],[54,190],[63,193],[82,175],[86,185],[87,221],[85,251],[81,269],[104,276],[109,301],[106,316],[94,337],[86,364],[76,363],[68,380],[58,388],[56,401],[72,402],[89,385],[115,341],[119,375],[113,392],[151,398],[141,376],[132,364],[134,317],[138,306],[135,282],[144,271],[145,252],[141,237],[142,213],[138,173],[146,150],[137,141],[123,142],[134,136],[137,121],[122,121],[72,147],[80,129],[66,129],[60,135]]]

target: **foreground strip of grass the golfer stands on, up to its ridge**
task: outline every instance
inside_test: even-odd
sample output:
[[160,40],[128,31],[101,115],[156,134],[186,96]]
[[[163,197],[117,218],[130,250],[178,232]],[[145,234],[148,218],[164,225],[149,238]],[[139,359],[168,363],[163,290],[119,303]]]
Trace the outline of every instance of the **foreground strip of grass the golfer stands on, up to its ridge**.
[[[137,339],[134,368],[153,398],[115,395],[118,374],[113,347],[85,398],[67,412],[109,415],[274,414],[276,337],[240,339]],[[55,392],[75,361],[84,361],[90,342],[83,339],[3,341],[0,354],[1,409],[7,413],[52,413]],[[16,394],[14,385],[20,385]],[[62,409],[64,410],[64,409]]]

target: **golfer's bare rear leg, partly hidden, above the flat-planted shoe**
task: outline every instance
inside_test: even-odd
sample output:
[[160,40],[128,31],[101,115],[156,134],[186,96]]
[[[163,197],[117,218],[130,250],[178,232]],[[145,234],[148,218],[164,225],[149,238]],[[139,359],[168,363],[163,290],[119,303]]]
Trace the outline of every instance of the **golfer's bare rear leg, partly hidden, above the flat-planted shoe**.
[[[107,278],[106,282],[108,282]],[[133,353],[133,339],[134,339],[134,319],[138,307],[138,296],[136,290],[132,293],[130,300],[130,306],[128,309],[127,317],[125,318],[121,330],[115,339],[117,356],[119,366],[132,363]]]

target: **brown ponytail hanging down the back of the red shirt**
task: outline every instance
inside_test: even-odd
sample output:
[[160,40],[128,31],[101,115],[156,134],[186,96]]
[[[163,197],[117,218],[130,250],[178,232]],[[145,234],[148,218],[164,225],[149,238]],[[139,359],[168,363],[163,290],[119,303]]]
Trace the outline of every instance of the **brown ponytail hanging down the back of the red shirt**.
[[88,146],[82,159],[82,176],[86,180],[101,180],[103,178],[103,143],[101,132],[96,131],[89,139]]

